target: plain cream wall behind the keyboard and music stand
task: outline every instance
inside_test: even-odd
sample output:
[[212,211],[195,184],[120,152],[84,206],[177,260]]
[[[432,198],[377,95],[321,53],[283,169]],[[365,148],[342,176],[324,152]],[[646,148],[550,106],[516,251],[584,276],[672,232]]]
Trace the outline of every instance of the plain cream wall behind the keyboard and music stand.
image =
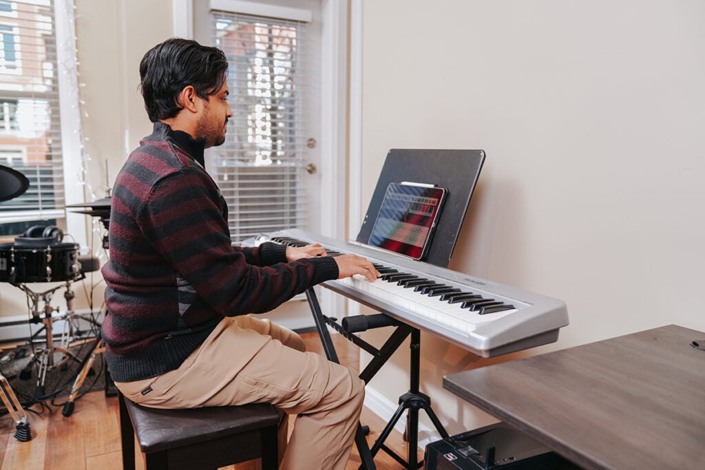
[[[390,148],[484,149],[450,267],[565,300],[570,326],[531,353],[705,330],[704,23],[696,0],[364,1],[363,209]],[[441,388],[488,361],[422,351],[449,431],[491,420]],[[406,364],[372,393],[396,405]]]

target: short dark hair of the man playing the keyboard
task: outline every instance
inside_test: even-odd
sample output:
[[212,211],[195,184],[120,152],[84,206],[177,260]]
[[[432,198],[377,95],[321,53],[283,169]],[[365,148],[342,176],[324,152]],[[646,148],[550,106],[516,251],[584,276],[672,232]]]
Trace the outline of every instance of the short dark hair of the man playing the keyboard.
[[149,120],[176,117],[183,109],[178,95],[188,85],[208,99],[223,86],[227,70],[223,51],[192,39],[174,37],[152,47],[140,62],[140,89]]

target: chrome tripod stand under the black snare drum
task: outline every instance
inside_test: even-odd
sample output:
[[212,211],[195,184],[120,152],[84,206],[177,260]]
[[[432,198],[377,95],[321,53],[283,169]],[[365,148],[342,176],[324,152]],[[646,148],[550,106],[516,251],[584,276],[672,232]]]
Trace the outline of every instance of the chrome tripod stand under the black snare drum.
[[[19,287],[20,290],[25,292],[25,294],[27,295],[27,300],[31,301],[30,314],[32,315],[32,318],[30,319],[30,323],[42,323],[44,325],[30,337],[30,344],[33,342],[33,338],[39,335],[39,333],[42,333],[42,331],[46,331],[47,346],[35,352],[34,357],[32,357],[32,361],[30,361],[30,363],[27,364],[27,367],[25,368],[25,371],[27,371],[31,368],[33,363],[39,363],[35,398],[37,400],[40,400],[44,398],[44,381],[46,381],[47,379],[47,371],[54,369],[54,367],[65,366],[66,364],[68,364],[69,361],[76,361],[80,363],[78,357],[76,357],[75,354],[66,349],[66,346],[68,346],[66,338],[63,338],[61,346],[54,346],[54,334],[52,332],[52,324],[54,323],[54,319],[51,318],[51,314],[54,311],[59,311],[59,308],[54,308],[49,305],[49,302],[51,302],[51,297],[54,296],[54,292],[61,289],[61,287],[66,287],[66,295],[64,295],[64,297],[66,298],[66,308],[68,309],[68,311],[73,310],[71,308],[71,300],[73,299],[73,292],[71,291],[71,281],[68,281],[66,285],[52,287],[51,289],[45,290],[44,292],[35,292],[29,287],[27,287],[26,284],[16,284],[16,287]],[[40,302],[44,302],[44,307],[42,309],[39,308]],[[27,303],[29,304],[30,302]],[[42,318],[42,314],[44,314],[44,318]],[[64,356],[61,361],[55,364],[54,354],[56,352],[61,352],[64,354]],[[25,373],[25,371],[23,371],[23,373]]]

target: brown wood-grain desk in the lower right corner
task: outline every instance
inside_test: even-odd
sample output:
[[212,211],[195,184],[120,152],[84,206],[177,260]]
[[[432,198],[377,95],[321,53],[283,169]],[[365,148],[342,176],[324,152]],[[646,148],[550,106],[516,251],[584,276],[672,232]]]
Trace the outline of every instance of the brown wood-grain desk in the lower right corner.
[[705,333],[664,326],[455,373],[443,387],[584,469],[705,469],[705,351],[693,340]]

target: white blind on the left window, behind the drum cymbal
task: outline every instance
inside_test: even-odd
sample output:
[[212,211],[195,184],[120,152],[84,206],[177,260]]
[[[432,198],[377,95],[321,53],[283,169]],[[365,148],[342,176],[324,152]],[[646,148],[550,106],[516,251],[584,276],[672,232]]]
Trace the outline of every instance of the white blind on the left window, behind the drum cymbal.
[[0,225],[63,218],[53,0],[0,1],[0,165],[30,180],[0,203]]

